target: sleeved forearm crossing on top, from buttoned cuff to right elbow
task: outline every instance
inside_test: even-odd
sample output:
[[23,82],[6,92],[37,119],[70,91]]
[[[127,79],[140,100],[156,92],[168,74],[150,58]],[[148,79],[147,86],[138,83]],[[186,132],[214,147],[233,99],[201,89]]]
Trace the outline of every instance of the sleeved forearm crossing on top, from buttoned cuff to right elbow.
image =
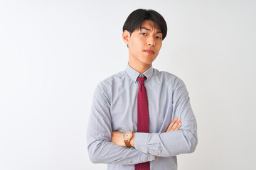
[[196,132],[177,130],[164,133],[137,133],[134,147],[144,153],[160,157],[191,153],[197,145]]

